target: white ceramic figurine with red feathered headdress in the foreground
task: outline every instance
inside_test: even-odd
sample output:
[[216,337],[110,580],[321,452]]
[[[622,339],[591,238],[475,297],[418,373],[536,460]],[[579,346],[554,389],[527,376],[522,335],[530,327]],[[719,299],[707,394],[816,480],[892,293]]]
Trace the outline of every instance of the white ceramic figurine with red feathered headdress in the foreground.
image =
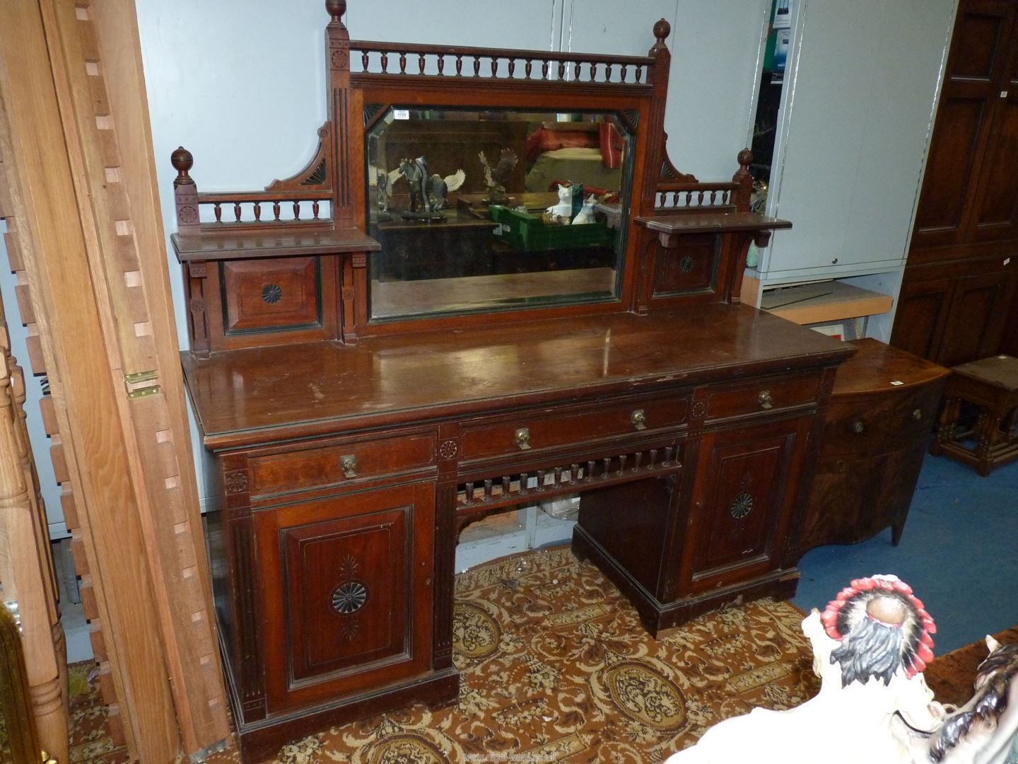
[[802,632],[821,677],[816,697],[787,711],[756,708],[721,721],[665,764],[1004,764],[1018,726],[1015,653],[1006,650],[1008,657],[995,660],[998,648],[991,656],[997,667],[993,695],[1010,699],[1011,706],[998,703],[1003,713],[981,725],[982,738],[969,734],[962,742],[963,729],[980,726],[972,720],[979,702],[949,714],[934,700],[922,670],[934,657],[936,625],[897,577],[853,581],[823,613],[814,609],[806,616]]

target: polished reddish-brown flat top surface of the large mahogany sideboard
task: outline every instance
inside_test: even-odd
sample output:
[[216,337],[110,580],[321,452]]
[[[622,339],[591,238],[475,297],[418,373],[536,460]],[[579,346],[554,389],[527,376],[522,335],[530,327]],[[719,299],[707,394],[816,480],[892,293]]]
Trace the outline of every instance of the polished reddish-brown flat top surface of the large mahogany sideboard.
[[851,345],[725,304],[356,345],[182,353],[205,443],[230,448],[664,385],[837,364]]

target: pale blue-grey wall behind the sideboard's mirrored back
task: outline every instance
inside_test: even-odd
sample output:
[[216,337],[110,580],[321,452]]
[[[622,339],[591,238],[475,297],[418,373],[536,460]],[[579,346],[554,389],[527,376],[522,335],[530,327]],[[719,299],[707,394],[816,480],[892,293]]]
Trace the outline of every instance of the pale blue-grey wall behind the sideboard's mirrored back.
[[[350,0],[354,39],[644,55],[672,24],[666,130],[676,166],[727,179],[745,146],[769,0]],[[160,198],[176,228],[170,153],[203,190],[248,190],[310,160],[326,120],[322,0],[136,0]],[[169,247],[167,248],[169,250]],[[173,274],[179,266],[169,255]],[[187,347],[182,279],[172,279]],[[194,433],[194,451],[204,453]],[[202,470],[199,490],[206,498]]]

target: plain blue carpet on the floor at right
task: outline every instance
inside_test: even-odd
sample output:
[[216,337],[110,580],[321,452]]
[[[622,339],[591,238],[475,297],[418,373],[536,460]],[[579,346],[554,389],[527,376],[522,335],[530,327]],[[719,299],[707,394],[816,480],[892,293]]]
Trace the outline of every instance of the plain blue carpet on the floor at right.
[[987,478],[927,455],[901,544],[888,529],[852,546],[812,549],[799,562],[792,602],[823,608],[852,579],[894,574],[937,621],[944,655],[1018,624],[1018,461]]

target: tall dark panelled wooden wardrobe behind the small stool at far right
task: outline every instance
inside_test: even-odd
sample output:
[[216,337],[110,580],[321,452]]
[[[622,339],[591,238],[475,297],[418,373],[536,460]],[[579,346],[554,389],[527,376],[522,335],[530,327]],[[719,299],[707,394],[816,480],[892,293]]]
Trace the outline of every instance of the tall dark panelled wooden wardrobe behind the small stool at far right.
[[961,0],[891,343],[1018,351],[1018,1]]

